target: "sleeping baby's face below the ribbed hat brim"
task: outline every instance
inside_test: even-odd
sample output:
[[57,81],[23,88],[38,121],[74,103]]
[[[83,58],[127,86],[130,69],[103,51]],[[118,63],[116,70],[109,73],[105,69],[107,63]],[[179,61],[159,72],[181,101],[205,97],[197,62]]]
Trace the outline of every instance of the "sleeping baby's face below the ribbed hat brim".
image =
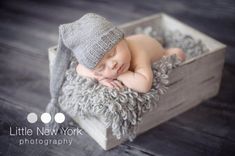
[[104,55],[93,72],[96,76],[116,79],[120,74],[128,71],[130,61],[131,53],[126,40],[123,39]]

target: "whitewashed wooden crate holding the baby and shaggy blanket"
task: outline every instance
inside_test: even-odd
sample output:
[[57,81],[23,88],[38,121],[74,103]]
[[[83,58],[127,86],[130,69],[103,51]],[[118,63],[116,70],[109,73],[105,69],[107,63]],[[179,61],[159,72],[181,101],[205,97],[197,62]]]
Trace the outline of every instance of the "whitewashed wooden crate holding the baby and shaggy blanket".
[[[130,35],[137,27],[149,25],[165,30],[179,30],[196,40],[201,40],[209,51],[190,58],[173,69],[170,74],[171,83],[168,92],[161,96],[158,107],[145,114],[138,127],[138,134],[193,108],[203,100],[215,96],[219,91],[225,58],[226,46],[224,44],[166,14],[160,13],[142,18],[121,25],[120,28],[126,35]],[[50,67],[53,65],[55,55],[56,47],[49,48]],[[105,128],[103,117],[91,117],[83,120],[78,116],[74,120],[105,150],[125,141],[124,139],[117,140],[112,135],[111,128]]]

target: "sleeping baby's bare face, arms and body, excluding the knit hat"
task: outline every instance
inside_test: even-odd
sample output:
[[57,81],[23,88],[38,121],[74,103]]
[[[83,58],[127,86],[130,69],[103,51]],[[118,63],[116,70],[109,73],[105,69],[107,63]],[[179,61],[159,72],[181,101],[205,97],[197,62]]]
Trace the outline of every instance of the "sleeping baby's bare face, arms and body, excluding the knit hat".
[[107,52],[94,70],[78,64],[76,71],[111,88],[128,87],[146,93],[152,87],[152,63],[164,55],[173,54],[185,60],[185,54],[179,48],[164,49],[158,41],[147,35],[132,35]]

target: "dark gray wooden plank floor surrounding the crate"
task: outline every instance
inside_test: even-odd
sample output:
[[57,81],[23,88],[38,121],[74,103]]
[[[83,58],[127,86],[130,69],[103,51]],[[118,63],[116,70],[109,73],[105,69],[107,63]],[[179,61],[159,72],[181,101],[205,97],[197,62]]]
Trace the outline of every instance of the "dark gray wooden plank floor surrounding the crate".
[[[200,106],[126,142],[103,151],[86,133],[68,145],[19,145],[10,127],[28,124],[29,112],[49,102],[47,49],[58,26],[96,12],[115,24],[158,12],[168,13],[228,45],[219,94]],[[187,0],[7,0],[0,2],[0,155],[2,156],[201,156],[235,155],[235,3]],[[63,126],[70,125],[71,121]],[[36,137],[36,136],[32,136]],[[58,136],[61,137],[62,136]],[[64,136],[63,136],[64,137]]]

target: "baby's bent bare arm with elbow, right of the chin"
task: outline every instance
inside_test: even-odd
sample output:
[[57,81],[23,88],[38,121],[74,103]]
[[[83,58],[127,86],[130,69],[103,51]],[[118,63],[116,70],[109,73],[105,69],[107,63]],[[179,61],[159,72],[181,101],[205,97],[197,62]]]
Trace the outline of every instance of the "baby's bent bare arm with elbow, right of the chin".
[[153,82],[153,72],[149,65],[138,68],[135,72],[127,71],[117,77],[125,86],[135,91],[147,93]]

